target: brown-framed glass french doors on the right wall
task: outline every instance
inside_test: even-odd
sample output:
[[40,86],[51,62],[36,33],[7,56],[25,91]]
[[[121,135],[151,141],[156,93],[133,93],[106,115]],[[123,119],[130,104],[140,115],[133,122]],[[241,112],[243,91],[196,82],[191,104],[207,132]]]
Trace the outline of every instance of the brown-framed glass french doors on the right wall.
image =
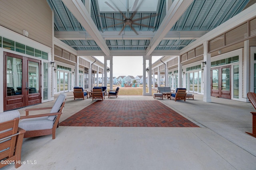
[[231,99],[231,66],[212,68],[211,95],[214,97]]

